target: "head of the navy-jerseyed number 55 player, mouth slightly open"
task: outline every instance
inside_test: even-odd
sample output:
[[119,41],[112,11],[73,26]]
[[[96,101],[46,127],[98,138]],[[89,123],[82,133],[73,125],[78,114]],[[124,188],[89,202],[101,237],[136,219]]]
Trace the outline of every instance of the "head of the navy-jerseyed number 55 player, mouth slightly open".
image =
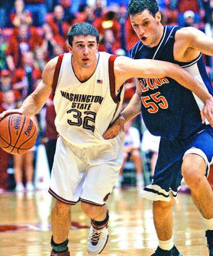
[[156,0],[130,0],[129,18],[144,45],[155,46],[161,38],[161,14]]

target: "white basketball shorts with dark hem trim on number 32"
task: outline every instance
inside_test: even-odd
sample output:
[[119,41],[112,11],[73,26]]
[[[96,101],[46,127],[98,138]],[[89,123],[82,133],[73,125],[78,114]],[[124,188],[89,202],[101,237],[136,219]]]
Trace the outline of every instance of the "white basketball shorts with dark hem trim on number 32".
[[79,200],[104,205],[116,181],[124,156],[120,136],[106,145],[76,147],[59,137],[49,193],[63,203]]

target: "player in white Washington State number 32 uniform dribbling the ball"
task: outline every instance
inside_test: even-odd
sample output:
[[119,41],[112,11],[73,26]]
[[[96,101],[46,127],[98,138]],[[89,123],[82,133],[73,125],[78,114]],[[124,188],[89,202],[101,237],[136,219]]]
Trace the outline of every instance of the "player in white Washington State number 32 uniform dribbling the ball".
[[[33,116],[52,91],[59,132],[49,192],[52,209],[51,256],[69,256],[70,208],[80,201],[91,219],[88,253],[99,254],[108,241],[109,213],[105,202],[123,160],[124,134],[104,140],[102,135],[116,120],[131,77],[171,77],[202,100],[209,94],[177,65],[154,60],[133,60],[98,52],[99,34],[88,23],[77,23],[68,33],[69,53],[47,63],[43,81],[20,109],[5,111]],[[161,82],[162,82],[161,81]],[[120,122],[122,126],[122,121]]]

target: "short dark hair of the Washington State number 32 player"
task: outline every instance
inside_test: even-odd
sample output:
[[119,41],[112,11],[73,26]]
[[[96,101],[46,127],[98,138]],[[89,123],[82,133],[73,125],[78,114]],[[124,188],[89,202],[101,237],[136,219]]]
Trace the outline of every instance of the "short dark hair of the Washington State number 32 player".
[[72,46],[73,38],[75,36],[95,36],[97,44],[99,43],[99,33],[97,29],[87,22],[76,23],[68,31],[68,42]]

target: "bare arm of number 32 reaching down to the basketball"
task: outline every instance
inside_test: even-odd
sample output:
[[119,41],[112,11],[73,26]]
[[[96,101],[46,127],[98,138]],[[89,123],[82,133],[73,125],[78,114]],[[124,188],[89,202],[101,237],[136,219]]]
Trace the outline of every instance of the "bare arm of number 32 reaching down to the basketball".
[[43,80],[38,84],[35,91],[32,92],[26,100],[23,101],[19,109],[6,110],[0,115],[0,120],[7,115],[20,113],[26,116],[34,116],[42,109],[48,96],[52,92],[53,75],[57,59],[47,63],[43,71]]

